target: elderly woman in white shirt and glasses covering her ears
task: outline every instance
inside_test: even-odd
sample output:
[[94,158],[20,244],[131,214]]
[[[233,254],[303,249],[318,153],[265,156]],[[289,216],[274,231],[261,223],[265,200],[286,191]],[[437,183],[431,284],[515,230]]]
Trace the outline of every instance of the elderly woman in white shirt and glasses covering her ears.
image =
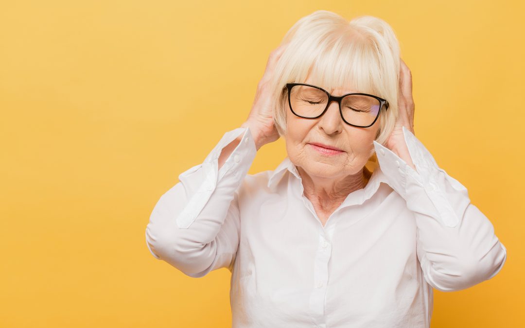
[[[507,252],[413,117],[387,23],[303,17],[246,122],[160,197],[146,244],[190,277],[228,268],[234,327],[429,327],[432,288],[488,280]],[[247,174],[279,137],[282,163]]]

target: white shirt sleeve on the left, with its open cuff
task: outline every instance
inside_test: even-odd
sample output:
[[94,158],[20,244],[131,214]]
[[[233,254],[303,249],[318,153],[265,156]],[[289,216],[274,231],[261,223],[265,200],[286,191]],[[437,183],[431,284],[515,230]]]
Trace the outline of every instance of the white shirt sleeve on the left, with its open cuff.
[[[223,148],[241,133],[240,143],[218,170]],[[224,134],[202,164],[178,176],[146,226],[146,245],[156,259],[194,278],[219,268],[233,270],[240,231],[237,189],[256,153],[249,128],[237,128]]]

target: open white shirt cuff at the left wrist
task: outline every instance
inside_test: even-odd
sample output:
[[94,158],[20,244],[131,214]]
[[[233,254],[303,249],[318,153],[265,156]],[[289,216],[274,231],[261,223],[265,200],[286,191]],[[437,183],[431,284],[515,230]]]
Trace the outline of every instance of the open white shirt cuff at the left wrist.
[[[240,133],[243,133],[242,139],[228,156],[223,166],[220,167],[220,170],[218,170],[220,153]],[[256,153],[255,141],[249,128],[237,128],[224,134],[202,164],[181,173],[178,179],[186,187],[187,194],[190,194],[191,197],[182,212],[177,216],[177,226],[181,229],[187,229],[191,226],[208,203],[217,183],[225,176],[236,179],[236,184],[240,185],[242,179],[248,173]]]

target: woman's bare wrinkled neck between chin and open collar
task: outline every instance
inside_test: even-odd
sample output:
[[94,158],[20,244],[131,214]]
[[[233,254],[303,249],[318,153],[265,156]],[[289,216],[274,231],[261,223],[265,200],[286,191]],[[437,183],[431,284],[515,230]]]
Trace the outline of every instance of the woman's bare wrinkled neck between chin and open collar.
[[364,188],[371,176],[364,166],[358,173],[343,178],[308,175],[301,167],[297,167],[297,170],[301,175],[304,196],[314,206],[323,209],[337,208],[350,193]]

